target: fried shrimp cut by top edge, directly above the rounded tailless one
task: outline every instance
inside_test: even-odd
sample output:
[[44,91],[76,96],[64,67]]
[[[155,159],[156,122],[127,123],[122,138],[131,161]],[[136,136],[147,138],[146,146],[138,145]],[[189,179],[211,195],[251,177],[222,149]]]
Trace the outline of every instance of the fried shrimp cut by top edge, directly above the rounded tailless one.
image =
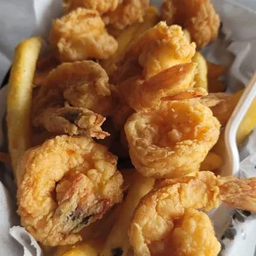
[[70,12],[78,7],[92,9],[102,13],[115,11],[122,0],[64,0],[63,7],[65,12]]

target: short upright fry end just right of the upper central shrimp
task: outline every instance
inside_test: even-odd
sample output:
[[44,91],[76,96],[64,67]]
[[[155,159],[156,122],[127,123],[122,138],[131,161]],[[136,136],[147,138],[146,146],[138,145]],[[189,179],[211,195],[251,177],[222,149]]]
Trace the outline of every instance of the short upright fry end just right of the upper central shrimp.
[[197,52],[192,58],[192,62],[197,63],[197,73],[195,75],[195,88],[204,88],[208,90],[207,86],[207,65],[206,59]]

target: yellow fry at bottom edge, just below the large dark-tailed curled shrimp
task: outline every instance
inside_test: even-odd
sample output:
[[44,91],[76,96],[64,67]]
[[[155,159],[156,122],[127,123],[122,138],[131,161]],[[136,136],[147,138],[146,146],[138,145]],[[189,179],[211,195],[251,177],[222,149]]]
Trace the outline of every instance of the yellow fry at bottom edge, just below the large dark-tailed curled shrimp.
[[59,246],[55,256],[97,256],[101,248],[101,240],[92,240],[81,244]]

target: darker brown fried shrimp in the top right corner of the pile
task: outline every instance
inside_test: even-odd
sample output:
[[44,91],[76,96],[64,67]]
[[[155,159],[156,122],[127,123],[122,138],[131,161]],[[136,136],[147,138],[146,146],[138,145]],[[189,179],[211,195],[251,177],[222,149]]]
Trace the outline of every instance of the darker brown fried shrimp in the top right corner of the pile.
[[197,50],[216,40],[220,17],[210,0],[164,0],[161,8],[163,20],[187,29]]

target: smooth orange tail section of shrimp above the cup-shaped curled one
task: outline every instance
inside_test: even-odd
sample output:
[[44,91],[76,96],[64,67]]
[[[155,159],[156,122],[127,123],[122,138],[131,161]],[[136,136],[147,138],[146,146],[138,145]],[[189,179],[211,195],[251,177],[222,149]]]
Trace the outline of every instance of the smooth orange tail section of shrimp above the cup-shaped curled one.
[[157,108],[162,101],[201,97],[207,92],[193,88],[196,68],[194,63],[175,65],[145,81],[139,77],[127,79],[118,88],[135,111]]

